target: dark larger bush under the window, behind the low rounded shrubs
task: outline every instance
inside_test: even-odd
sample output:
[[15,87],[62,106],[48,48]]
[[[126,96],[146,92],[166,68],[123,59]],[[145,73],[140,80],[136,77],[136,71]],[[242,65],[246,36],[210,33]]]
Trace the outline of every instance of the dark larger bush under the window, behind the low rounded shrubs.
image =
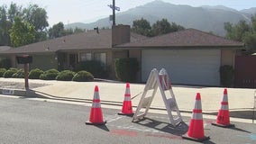
[[81,61],[78,63],[75,70],[77,72],[81,70],[86,70],[97,78],[106,78],[108,76],[105,65],[102,62],[96,60]]

